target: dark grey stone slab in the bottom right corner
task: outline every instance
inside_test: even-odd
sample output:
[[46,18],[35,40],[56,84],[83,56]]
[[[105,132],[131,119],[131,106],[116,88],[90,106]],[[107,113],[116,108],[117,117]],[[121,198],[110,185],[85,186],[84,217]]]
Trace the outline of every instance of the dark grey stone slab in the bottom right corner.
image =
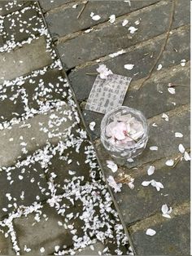
[[146,236],[146,230],[132,233],[138,255],[190,255],[190,214],[153,225],[155,236]]

